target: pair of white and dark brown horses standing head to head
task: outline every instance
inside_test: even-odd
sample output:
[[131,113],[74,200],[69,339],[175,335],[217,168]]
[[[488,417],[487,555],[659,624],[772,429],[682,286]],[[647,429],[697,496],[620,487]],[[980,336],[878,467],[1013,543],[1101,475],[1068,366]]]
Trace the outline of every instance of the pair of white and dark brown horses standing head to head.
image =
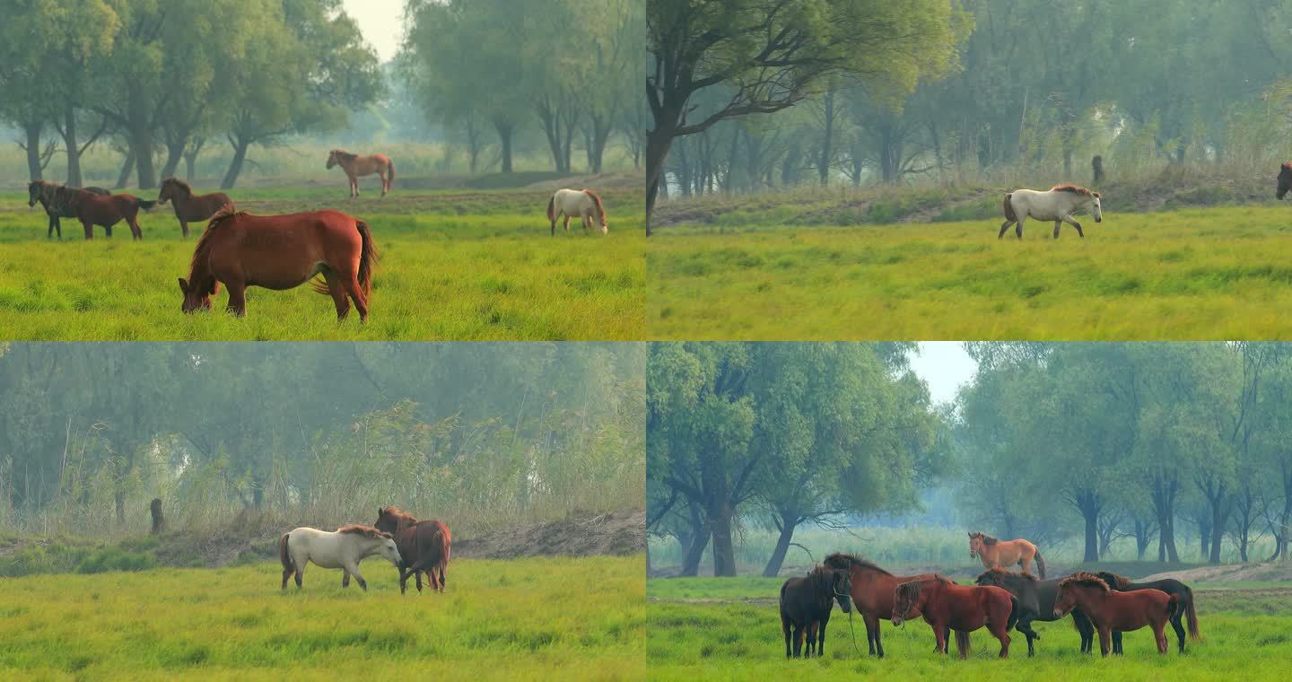
[[420,593],[422,574],[433,592],[443,593],[451,544],[452,533],[443,522],[417,521],[395,506],[379,509],[372,526],[348,523],[332,532],[296,528],[278,539],[278,558],[283,564],[282,589],[287,589],[287,580],[293,575],[296,588],[302,588],[305,566],[314,563],[319,568],[340,568],[342,588],[350,586],[353,576],[367,592],[368,583],[359,575],[359,562],[380,555],[399,570],[399,594],[407,590],[408,577],[415,579]]

